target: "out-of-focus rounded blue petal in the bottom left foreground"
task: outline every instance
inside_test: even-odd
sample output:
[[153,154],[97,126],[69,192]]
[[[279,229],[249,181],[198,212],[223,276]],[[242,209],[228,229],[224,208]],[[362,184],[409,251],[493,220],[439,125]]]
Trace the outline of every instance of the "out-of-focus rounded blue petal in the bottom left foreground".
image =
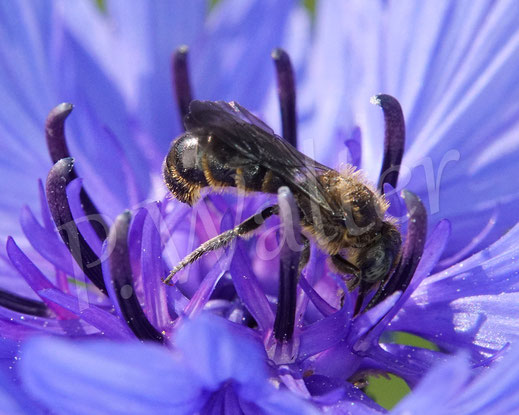
[[57,414],[191,414],[201,404],[193,374],[152,344],[33,339],[20,376]]

